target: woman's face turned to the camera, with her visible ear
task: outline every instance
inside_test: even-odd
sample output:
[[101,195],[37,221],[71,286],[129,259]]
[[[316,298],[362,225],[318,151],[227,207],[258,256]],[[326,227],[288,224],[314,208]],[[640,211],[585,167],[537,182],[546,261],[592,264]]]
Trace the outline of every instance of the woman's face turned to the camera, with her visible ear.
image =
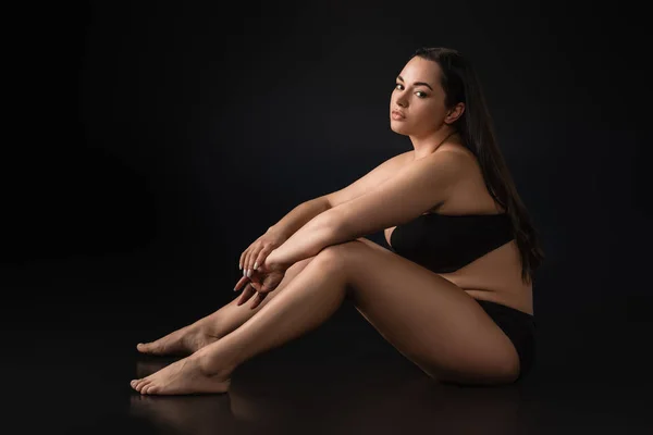
[[[390,126],[402,135],[427,136],[438,132],[444,123],[453,123],[460,114],[444,105],[444,89],[440,86],[440,65],[415,57],[399,73],[390,99]],[[398,111],[404,116],[396,116]],[[460,113],[457,113],[460,112]]]

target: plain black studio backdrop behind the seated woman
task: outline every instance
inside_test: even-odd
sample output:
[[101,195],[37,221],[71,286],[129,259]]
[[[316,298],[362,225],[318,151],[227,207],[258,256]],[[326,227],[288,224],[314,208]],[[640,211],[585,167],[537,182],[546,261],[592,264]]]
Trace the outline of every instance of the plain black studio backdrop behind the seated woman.
[[542,237],[542,365],[623,360],[653,301],[634,4],[13,7],[0,250],[5,331],[26,334],[9,349],[131,349],[231,300],[270,225],[411,148],[390,129],[394,79],[445,46],[476,65]]

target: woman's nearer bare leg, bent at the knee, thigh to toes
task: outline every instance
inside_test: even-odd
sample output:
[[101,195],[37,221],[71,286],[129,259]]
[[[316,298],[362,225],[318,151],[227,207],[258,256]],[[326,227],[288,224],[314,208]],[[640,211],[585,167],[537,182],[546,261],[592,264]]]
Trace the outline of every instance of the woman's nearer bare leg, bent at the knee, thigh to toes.
[[324,248],[241,327],[132,381],[132,387],[156,395],[225,393],[239,364],[316,328],[345,298],[399,352],[439,381],[515,381],[519,370],[515,348],[472,297],[438,274],[370,244],[375,245],[357,239]]

